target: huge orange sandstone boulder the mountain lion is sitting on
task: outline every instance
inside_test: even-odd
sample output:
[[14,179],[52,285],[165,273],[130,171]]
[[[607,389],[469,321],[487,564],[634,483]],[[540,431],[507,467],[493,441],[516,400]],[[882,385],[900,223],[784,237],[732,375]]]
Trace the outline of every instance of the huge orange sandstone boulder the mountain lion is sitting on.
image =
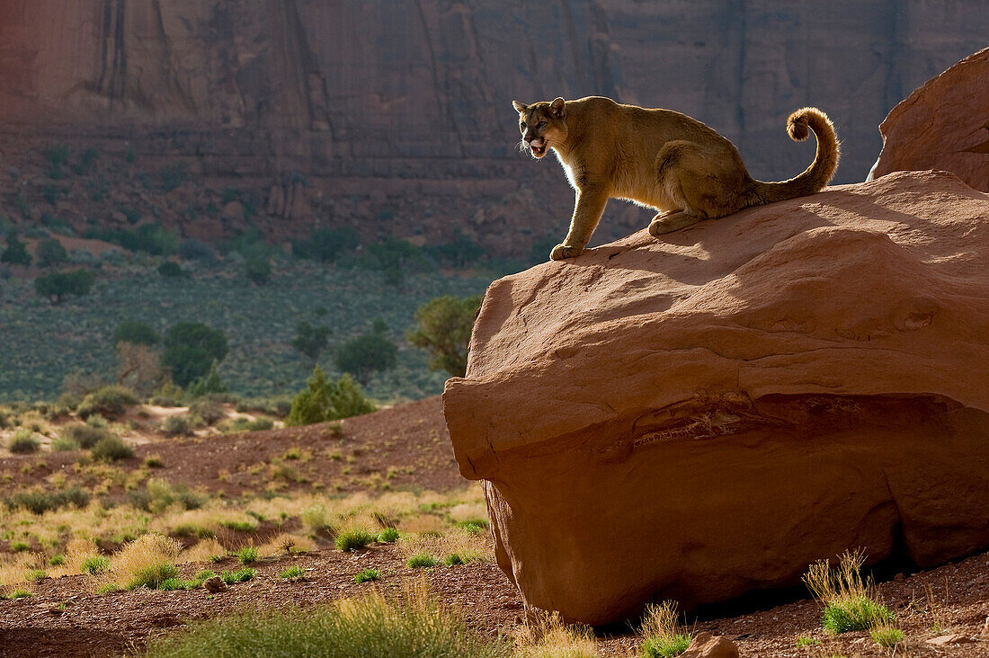
[[527,604],[607,622],[989,546],[989,195],[945,172],[495,281],[443,396]]

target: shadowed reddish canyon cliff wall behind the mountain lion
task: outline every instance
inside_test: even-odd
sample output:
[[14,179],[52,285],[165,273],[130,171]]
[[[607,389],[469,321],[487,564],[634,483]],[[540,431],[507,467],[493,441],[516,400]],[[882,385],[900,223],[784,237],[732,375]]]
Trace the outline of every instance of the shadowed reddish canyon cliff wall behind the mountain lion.
[[[816,105],[845,143],[836,180],[861,180],[886,112],[987,29],[974,0],[3,0],[0,150],[10,166],[45,141],[129,142],[145,165],[188,158],[256,189],[295,224],[428,237],[456,221],[505,252],[497,235],[562,234],[570,214],[561,172],[514,150],[513,98],[679,110],[763,179],[812,158],[784,122]],[[413,231],[396,211],[432,219]],[[617,203],[611,215],[611,235],[649,219]]]

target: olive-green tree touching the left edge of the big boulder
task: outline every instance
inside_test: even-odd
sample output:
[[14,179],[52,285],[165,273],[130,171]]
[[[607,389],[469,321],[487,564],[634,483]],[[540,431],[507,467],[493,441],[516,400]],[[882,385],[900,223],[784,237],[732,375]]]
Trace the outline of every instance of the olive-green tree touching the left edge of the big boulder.
[[437,297],[415,312],[418,327],[408,341],[429,350],[429,369],[446,370],[454,377],[467,372],[467,345],[481,297]]

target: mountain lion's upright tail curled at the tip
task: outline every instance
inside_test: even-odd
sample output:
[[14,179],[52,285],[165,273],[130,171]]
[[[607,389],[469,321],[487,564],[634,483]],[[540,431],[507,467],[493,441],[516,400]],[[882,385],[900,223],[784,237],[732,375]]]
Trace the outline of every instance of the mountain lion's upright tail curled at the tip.
[[841,155],[835,126],[817,108],[801,108],[786,120],[786,133],[793,141],[804,141],[814,131],[817,138],[817,154],[814,161],[802,174],[778,183],[756,181],[756,192],[764,203],[786,201],[794,197],[802,197],[819,192],[827,186],[838,168],[838,158]]

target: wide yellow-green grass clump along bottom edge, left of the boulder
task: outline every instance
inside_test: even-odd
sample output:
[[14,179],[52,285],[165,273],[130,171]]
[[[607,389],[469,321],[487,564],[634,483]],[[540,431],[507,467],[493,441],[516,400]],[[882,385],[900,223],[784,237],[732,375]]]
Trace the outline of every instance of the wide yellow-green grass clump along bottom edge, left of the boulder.
[[509,658],[511,646],[480,636],[427,595],[407,597],[400,606],[370,594],[346,604],[195,621],[186,631],[152,638],[146,655]]

